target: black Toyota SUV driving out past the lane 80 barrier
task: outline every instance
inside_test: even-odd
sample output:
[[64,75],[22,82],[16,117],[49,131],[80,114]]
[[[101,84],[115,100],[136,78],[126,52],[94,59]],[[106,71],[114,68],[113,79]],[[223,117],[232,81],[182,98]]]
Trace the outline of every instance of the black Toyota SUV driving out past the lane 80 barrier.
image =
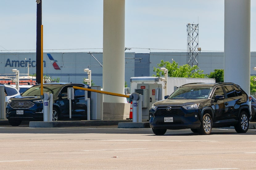
[[213,127],[234,126],[246,133],[251,120],[250,96],[234,83],[190,83],[175,90],[149,110],[156,135],[167,129],[191,129],[210,134]]

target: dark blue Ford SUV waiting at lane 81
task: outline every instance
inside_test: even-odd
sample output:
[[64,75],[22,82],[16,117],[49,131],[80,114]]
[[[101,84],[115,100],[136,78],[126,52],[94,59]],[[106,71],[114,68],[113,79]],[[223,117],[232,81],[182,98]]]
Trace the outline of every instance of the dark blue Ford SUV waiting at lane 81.
[[[78,83],[45,83],[43,92],[53,94],[53,121],[69,119],[68,87],[85,87]],[[10,98],[6,106],[6,118],[10,125],[19,126],[23,120],[43,121],[43,100],[40,98],[41,85],[35,85],[21,96]],[[87,119],[85,91],[74,89],[72,118]]]

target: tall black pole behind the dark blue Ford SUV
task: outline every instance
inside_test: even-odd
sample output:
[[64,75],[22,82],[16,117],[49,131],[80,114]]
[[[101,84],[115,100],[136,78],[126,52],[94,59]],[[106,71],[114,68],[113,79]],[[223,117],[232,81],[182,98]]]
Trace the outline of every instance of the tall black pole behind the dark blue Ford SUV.
[[36,0],[36,82],[41,82],[42,0]]

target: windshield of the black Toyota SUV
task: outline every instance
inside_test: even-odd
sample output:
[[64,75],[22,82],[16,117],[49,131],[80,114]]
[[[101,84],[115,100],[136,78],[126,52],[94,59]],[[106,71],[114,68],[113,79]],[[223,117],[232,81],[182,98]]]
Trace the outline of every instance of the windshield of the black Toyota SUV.
[[180,87],[174,91],[168,99],[207,99],[211,93],[212,87]]

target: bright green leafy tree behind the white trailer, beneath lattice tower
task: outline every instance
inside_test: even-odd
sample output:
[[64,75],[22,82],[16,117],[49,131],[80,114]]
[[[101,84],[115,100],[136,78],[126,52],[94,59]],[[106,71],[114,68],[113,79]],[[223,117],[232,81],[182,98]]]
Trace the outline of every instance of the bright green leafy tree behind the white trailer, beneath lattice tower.
[[157,68],[154,67],[154,72],[156,72],[156,75],[152,76],[164,76],[164,71],[161,71],[162,67],[168,69],[168,77],[205,78],[207,76],[206,74],[203,74],[204,71],[199,70],[199,67],[196,65],[192,67],[188,64],[179,66],[175,61],[170,63],[169,61],[163,60],[161,60],[161,63],[157,64]]

